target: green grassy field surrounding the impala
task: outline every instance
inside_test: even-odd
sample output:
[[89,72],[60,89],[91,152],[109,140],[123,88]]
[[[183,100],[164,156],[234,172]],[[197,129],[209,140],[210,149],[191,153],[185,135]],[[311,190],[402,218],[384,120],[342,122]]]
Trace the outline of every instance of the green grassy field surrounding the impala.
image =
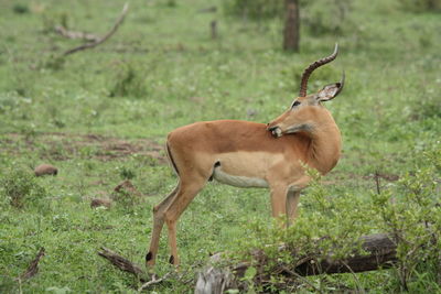
[[[104,34],[125,2],[3,0],[0,292],[136,292],[135,279],[96,252],[105,246],[143,264],[152,207],[176,182],[162,151],[166,134],[200,120],[270,121],[295,97],[303,68],[331,53],[335,42],[338,58],[314,73],[309,86],[318,90],[346,73],[344,91],[326,104],[343,134],[342,159],[323,179],[330,202],[342,197],[345,211],[355,213],[361,202],[372,203],[376,172],[381,188],[394,190],[401,178],[418,176],[429,165],[434,166],[427,175],[434,183],[430,196],[439,202],[441,14],[413,13],[402,8],[404,1],[345,1],[348,11],[338,30],[316,32],[306,21],[310,15],[322,11],[325,24],[332,15],[320,10],[319,0],[313,2],[301,11],[305,21],[295,54],[281,51],[282,22],[277,18],[234,18],[223,12],[220,0],[132,0],[125,23],[108,42],[60,57],[80,41],[57,35],[54,25]],[[211,4],[217,12],[200,12]],[[209,35],[212,20],[218,23],[216,40]],[[34,178],[32,170],[41,163],[57,166],[58,175]],[[126,178],[144,196],[117,195],[114,187]],[[8,189],[14,185],[22,192],[21,207],[10,205]],[[318,209],[314,190],[302,195],[298,226]],[[114,206],[92,209],[94,197],[114,197]],[[431,214],[440,211],[433,209]],[[332,232],[342,217],[332,218],[323,222],[330,226],[324,231]],[[172,279],[150,290],[192,292],[191,279],[209,253],[240,250],[238,240],[252,236],[250,222],[271,224],[267,190],[207,185],[179,224],[187,283]],[[369,222],[364,230],[381,228]],[[19,283],[14,279],[41,247],[46,255],[39,274]],[[168,257],[164,233],[160,275],[171,270]],[[415,271],[410,292],[441,293],[433,271]],[[385,293],[404,290],[397,275],[397,270],[383,270],[356,279],[309,279],[323,292]],[[312,290],[301,284],[298,291]]]

